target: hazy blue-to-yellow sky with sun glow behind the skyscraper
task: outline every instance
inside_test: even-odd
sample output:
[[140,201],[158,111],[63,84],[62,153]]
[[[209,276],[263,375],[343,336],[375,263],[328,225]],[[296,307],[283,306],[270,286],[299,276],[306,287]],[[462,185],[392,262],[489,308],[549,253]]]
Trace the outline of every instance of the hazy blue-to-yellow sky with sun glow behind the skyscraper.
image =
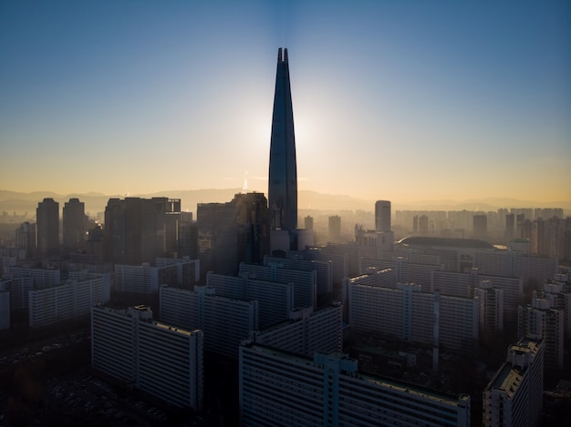
[[571,198],[568,1],[1,2],[0,189],[267,193],[280,46],[300,189]]

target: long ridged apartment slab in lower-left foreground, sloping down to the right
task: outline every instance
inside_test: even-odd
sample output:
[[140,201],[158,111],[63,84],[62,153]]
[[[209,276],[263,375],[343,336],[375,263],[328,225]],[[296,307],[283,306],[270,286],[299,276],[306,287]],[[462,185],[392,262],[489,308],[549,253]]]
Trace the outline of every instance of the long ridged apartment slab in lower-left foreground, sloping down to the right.
[[202,409],[203,333],[152,320],[145,306],[91,310],[91,365],[178,407]]

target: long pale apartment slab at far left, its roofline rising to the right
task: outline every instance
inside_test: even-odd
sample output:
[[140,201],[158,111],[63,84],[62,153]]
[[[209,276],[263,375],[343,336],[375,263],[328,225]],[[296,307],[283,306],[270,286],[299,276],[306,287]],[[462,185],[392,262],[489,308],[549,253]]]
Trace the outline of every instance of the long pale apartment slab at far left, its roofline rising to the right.
[[28,292],[31,328],[49,326],[89,314],[91,306],[109,301],[109,274],[70,279],[65,285]]

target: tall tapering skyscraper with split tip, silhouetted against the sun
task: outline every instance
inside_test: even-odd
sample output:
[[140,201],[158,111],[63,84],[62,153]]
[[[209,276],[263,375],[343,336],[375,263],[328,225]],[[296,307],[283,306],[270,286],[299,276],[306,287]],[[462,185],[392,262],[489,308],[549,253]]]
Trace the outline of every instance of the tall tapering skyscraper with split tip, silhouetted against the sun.
[[270,143],[268,207],[271,229],[297,228],[297,167],[294,112],[287,49],[277,51],[274,114]]

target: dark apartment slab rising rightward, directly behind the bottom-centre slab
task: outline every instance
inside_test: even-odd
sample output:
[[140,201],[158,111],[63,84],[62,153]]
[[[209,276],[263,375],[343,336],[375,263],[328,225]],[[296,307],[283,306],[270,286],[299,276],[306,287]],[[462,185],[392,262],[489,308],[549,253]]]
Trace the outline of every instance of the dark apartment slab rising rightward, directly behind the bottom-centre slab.
[[290,320],[252,331],[250,341],[307,357],[316,351],[343,351],[343,307],[336,303],[317,311],[299,310]]

